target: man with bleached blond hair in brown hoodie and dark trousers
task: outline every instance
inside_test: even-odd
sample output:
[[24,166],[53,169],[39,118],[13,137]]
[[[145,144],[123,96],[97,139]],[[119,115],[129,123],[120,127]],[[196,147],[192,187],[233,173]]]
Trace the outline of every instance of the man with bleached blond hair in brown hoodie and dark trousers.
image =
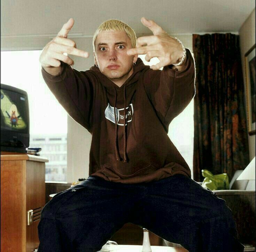
[[[167,135],[195,95],[192,55],[152,20],[141,22],[153,35],[137,46],[127,24],[102,23],[93,38],[95,65],[85,72],[63,55],[88,57],[67,38],[73,19],[42,51],[47,85],[92,144],[89,178],[41,212],[39,252],[98,251],[127,222],[190,252],[243,251],[225,201],[191,179]],[[160,62],[145,66],[138,54]]]

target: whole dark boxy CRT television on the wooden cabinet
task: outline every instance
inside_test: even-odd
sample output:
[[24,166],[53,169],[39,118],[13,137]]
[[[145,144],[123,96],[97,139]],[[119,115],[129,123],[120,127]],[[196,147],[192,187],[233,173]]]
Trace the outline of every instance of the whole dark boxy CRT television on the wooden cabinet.
[[1,84],[1,151],[26,153],[29,102],[26,91]]

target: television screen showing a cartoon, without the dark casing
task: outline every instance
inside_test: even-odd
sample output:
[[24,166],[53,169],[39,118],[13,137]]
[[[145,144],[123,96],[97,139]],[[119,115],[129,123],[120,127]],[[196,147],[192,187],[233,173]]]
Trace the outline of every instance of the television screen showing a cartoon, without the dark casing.
[[27,96],[1,89],[1,129],[28,133]]

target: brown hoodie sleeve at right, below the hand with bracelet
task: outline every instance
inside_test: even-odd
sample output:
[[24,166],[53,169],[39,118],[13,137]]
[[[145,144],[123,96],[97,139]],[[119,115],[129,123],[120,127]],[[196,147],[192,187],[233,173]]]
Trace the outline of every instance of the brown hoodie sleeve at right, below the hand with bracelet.
[[168,130],[172,119],[178,116],[195,95],[195,65],[191,52],[186,49],[184,70],[171,66],[144,74],[144,86],[158,117]]

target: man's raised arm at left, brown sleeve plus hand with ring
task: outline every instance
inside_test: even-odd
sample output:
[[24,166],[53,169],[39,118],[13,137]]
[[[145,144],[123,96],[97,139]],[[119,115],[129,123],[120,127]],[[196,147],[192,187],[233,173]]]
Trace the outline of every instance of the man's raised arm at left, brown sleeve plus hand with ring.
[[56,99],[77,123],[91,131],[95,80],[86,72],[72,69],[73,60],[63,53],[88,58],[89,53],[76,48],[67,38],[74,24],[72,18],[49,42],[40,56],[42,76]]

